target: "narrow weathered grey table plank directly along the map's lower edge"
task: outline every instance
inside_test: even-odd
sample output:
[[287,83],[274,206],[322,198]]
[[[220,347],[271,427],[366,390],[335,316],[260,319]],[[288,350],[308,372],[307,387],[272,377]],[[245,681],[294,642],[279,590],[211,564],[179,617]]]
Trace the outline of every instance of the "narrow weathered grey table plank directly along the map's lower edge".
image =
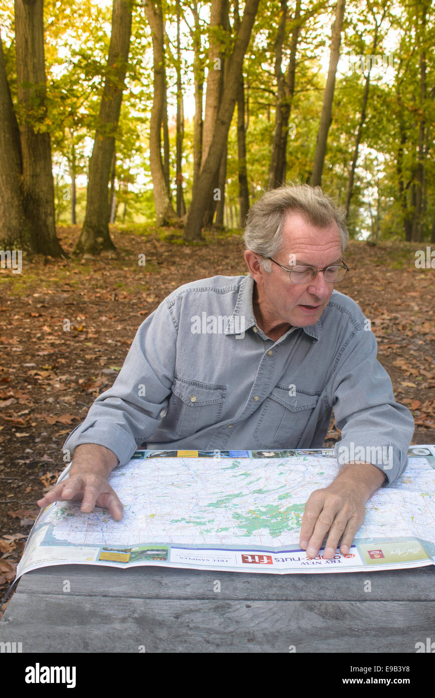
[[[160,599],[256,599],[337,601],[430,601],[435,599],[435,567],[341,574],[246,574],[174,567],[121,570],[95,565],[56,565],[27,572],[17,594],[61,594],[70,581],[75,596]],[[371,582],[371,590],[365,591]],[[220,591],[215,591],[220,582]]]

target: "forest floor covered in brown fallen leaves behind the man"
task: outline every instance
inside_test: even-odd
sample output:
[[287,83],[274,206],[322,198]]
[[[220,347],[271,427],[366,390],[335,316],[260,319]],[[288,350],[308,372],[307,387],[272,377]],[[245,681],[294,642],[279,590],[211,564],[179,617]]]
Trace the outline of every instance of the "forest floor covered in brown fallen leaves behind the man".
[[[29,267],[24,260],[22,274],[0,269],[0,602],[39,511],[36,500],[66,465],[63,443],[112,385],[137,327],[179,285],[247,272],[237,231],[206,232],[196,244],[176,229],[111,233],[114,253],[37,257]],[[58,235],[70,253],[79,227]],[[414,445],[435,443],[435,271],[415,267],[418,249],[426,244],[351,242],[344,253],[351,271],[337,287],[371,320],[396,399],[413,413]],[[325,446],[337,439],[332,420]]]

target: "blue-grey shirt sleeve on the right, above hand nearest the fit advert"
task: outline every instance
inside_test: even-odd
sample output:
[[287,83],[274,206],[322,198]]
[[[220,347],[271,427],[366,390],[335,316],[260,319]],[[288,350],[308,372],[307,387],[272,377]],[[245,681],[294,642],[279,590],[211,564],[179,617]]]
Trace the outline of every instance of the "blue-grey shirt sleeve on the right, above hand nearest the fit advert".
[[335,445],[339,465],[372,463],[385,473],[385,486],[406,468],[414,420],[395,401],[390,376],[376,353],[374,334],[365,330],[364,322],[358,324],[340,350],[328,400],[333,403],[335,424],[342,430],[342,440]]

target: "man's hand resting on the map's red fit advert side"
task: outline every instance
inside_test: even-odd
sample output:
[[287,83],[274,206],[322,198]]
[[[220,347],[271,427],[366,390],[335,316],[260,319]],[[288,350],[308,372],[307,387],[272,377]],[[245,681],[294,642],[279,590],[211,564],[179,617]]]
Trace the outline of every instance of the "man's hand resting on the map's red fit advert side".
[[365,518],[365,503],[381,487],[386,475],[372,463],[348,463],[328,487],[316,489],[305,505],[299,544],[314,558],[326,534],[324,556],[334,557],[340,537],[340,552],[347,555]]

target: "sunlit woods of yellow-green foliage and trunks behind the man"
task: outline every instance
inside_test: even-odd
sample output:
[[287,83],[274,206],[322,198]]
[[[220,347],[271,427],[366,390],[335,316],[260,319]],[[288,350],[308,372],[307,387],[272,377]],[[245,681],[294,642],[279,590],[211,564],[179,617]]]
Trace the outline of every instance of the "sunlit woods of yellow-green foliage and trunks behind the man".
[[98,253],[121,216],[200,239],[285,181],[346,205],[351,237],[435,241],[430,0],[0,0],[0,20],[3,246],[61,255],[78,223]]

